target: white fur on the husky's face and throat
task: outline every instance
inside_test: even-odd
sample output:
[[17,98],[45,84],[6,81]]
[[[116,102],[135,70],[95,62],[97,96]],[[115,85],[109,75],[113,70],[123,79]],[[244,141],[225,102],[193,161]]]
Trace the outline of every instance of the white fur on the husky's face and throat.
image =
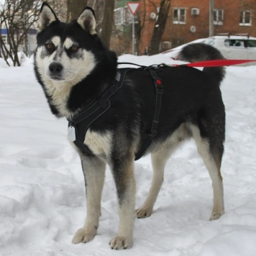
[[[83,58],[69,58],[65,50],[63,50],[63,45],[69,46],[73,42],[70,38],[67,38],[63,45],[60,44],[60,37],[52,37],[51,42],[57,47],[55,52],[52,55],[47,55],[45,46],[40,46],[37,48],[35,60],[47,94],[52,99],[52,104],[57,107],[60,114],[69,117],[70,111],[66,108],[66,104],[70,90],[91,73],[91,70],[96,65],[96,60],[92,52],[84,49],[78,49]],[[62,81],[50,78],[49,65],[52,62],[58,62],[63,65]]]

